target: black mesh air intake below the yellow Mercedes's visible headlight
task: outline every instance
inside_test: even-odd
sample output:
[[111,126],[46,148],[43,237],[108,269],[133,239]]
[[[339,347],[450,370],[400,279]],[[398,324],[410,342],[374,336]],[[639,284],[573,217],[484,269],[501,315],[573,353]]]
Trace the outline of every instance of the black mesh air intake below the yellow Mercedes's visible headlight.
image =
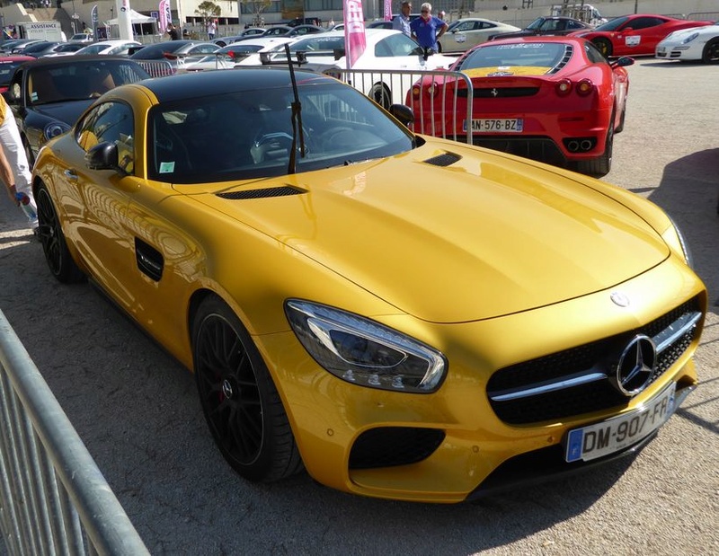
[[357,438],[350,454],[350,469],[372,469],[421,462],[444,440],[436,428],[370,428]]

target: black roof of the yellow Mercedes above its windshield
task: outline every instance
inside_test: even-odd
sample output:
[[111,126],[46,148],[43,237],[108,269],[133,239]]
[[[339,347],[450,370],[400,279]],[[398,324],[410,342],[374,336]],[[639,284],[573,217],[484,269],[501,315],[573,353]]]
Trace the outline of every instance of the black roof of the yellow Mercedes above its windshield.
[[[334,83],[333,78],[308,70],[295,70],[297,84],[308,81]],[[146,79],[138,85],[155,93],[160,102],[179,101],[207,95],[236,93],[291,86],[287,67],[235,68],[213,72],[192,72]]]

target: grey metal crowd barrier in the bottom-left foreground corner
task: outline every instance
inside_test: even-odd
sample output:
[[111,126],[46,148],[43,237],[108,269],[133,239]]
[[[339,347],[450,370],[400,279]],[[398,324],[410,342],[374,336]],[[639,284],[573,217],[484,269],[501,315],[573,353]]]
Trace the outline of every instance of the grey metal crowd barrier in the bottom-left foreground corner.
[[149,555],[0,311],[0,534],[9,554]]

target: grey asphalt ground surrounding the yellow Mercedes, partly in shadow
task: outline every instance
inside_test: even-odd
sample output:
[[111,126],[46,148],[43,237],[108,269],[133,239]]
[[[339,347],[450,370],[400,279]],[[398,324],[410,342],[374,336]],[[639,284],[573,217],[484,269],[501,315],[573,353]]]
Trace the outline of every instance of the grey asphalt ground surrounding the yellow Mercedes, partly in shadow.
[[639,59],[604,181],[665,208],[711,306],[701,385],[633,458],[469,505],[365,499],[224,463],[189,372],[91,286],[51,278],[0,195],[0,308],[153,554],[719,554],[719,66]]

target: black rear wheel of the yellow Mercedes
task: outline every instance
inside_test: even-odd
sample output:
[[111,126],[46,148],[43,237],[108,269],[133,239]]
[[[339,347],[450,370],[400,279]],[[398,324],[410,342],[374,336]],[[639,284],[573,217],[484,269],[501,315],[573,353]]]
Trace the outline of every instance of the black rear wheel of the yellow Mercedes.
[[35,203],[38,206],[38,236],[50,272],[64,284],[84,281],[83,271],[67,249],[67,240],[62,233],[58,212],[52,203],[48,187],[41,181],[35,190]]

